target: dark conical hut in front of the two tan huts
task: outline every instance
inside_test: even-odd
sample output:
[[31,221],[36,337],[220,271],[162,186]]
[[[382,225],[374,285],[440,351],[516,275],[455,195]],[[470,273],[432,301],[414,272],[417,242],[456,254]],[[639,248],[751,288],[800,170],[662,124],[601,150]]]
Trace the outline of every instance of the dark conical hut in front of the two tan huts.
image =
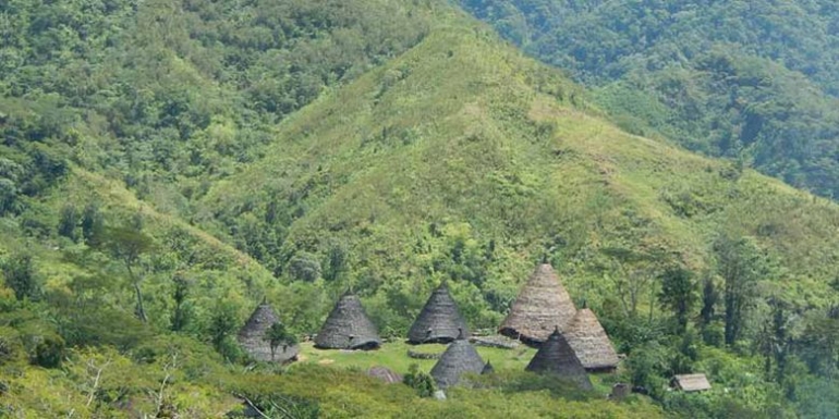
[[527,371],[558,374],[577,383],[582,389],[592,390],[592,382],[585,373],[585,368],[574,355],[574,349],[559,333],[559,328],[542,344],[539,350],[527,363]]

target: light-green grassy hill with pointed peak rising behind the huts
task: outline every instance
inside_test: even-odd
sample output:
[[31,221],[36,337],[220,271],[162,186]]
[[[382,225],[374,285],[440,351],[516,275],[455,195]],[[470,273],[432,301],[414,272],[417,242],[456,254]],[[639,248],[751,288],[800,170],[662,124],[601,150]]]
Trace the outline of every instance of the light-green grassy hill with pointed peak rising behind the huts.
[[282,278],[352,285],[387,325],[446,278],[495,326],[543,257],[599,306],[636,271],[710,270],[719,237],[752,236],[775,260],[767,293],[829,301],[836,206],[627,134],[579,95],[481,26],[441,28],[280,124],[195,221],[245,232],[240,248]]

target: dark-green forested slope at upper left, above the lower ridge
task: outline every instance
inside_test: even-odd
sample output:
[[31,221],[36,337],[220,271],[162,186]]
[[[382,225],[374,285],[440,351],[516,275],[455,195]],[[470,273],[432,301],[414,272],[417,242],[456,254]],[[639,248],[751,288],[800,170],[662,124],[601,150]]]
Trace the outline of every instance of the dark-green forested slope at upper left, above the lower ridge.
[[41,153],[186,215],[186,199],[259,156],[273,123],[415,44],[433,13],[387,1],[3,2],[0,118],[22,172],[3,174],[4,210],[15,187],[38,192],[27,181]]

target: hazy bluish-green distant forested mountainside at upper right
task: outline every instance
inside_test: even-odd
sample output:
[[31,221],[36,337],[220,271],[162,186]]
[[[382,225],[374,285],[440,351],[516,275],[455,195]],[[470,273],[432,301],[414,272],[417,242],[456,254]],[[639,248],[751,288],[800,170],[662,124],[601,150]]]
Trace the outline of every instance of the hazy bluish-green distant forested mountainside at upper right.
[[662,134],[824,196],[839,192],[832,1],[464,0],[508,39]]

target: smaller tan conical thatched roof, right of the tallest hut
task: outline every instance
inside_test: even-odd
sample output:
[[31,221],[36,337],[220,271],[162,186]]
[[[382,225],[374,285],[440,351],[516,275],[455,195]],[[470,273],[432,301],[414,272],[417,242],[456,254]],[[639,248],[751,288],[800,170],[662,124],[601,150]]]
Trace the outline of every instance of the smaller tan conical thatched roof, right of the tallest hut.
[[586,370],[610,371],[618,366],[618,354],[592,310],[580,309],[562,334]]

